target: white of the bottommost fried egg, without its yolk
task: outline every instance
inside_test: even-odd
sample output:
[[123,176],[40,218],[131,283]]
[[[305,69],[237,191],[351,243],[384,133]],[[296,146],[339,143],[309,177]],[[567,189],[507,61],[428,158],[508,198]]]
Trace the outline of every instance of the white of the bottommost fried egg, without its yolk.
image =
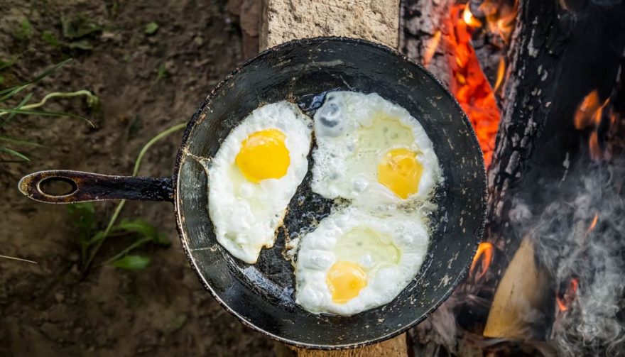
[[[344,234],[357,227],[367,227],[391,237],[401,256],[396,264],[386,263],[379,269],[367,271],[367,284],[352,300],[339,304],[332,300],[327,286],[327,271],[337,261],[346,260],[337,253],[337,243]],[[347,207],[320,221],[315,231],[301,239],[295,264],[295,302],[312,313],[349,316],[391,302],[415,278],[428,251],[429,234],[426,219],[399,210],[368,212],[359,207]],[[373,248],[362,247],[357,262],[375,266],[371,261]],[[350,257],[353,259],[353,256]]]

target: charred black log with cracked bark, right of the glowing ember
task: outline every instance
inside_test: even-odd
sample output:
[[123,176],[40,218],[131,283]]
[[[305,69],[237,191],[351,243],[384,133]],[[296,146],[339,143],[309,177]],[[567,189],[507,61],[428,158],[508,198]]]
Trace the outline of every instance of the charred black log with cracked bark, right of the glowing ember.
[[548,203],[543,192],[565,179],[580,154],[585,134],[573,124],[577,106],[593,89],[609,97],[624,53],[625,4],[573,2],[519,5],[489,170],[487,238],[506,256],[527,233],[526,219]]

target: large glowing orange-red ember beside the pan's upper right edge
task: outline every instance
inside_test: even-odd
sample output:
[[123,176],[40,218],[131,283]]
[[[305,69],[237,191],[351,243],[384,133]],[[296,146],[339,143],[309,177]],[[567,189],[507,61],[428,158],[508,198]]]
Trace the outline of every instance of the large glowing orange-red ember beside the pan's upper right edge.
[[[463,4],[452,6],[450,17],[446,19],[443,32],[443,41],[452,70],[450,84],[452,93],[462,106],[462,109],[473,124],[479,145],[484,152],[486,165],[491,163],[495,146],[495,136],[499,126],[499,108],[497,107],[494,92],[482,72],[475,50],[471,45],[470,27],[464,18],[470,11]],[[460,16],[460,13],[464,16]],[[474,18],[469,21],[474,23]]]

